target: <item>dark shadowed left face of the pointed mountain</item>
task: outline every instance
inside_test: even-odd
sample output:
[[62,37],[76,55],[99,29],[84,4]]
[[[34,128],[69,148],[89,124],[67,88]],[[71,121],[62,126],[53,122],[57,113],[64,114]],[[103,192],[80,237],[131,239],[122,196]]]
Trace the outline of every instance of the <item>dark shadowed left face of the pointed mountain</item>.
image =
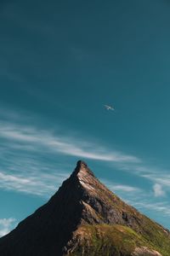
[[62,255],[62,247],[80,223],[81,197],[82,188],[73,173],[47,204],[0,239],[0,255]]

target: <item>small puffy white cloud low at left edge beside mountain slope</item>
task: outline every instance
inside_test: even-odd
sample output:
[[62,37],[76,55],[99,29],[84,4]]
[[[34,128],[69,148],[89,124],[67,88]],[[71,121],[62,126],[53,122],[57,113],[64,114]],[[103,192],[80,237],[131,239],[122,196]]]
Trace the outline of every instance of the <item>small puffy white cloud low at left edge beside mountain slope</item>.
[[14,229],[16,225],[15,218],[0,218],[0,237],[5,236],[8,232]]

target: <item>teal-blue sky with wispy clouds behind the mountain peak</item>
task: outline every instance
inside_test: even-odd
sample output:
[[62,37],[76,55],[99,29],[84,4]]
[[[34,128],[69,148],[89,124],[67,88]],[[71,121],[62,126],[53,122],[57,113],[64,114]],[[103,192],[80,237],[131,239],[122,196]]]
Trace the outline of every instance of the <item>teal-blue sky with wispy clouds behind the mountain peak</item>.
[[161,0],[1,1],[0,236],[79,159],[170,228],[169,12]]

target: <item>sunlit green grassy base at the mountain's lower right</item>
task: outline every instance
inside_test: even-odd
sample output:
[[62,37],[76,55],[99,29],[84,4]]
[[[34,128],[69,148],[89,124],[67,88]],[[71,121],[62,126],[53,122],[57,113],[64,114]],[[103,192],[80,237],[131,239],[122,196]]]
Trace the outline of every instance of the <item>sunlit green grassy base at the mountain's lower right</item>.
[[[137,247],[147,247],[151,254],[155,250],[162,256],[169,256],[170,243],[161,233],[156,234],[160,244],[153,241],[152,237],[141,236],[134,230],[119,224],[94,224],[81,225],[73,238],[74,246],[69,256],[130,256]],[[157,240],[156,239],[156,240]],[[163,241],[162,241],[163,239]],[[71,246],[71,245],[70,245]]]

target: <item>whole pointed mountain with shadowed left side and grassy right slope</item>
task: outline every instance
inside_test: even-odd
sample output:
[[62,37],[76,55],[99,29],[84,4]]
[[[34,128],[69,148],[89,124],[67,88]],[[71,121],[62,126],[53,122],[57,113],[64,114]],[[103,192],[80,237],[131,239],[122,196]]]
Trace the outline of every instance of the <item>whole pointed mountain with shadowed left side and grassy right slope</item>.
[[0,239],[2,256],[169,256],[170,232],[128,206],[82,160],[42,207]]

